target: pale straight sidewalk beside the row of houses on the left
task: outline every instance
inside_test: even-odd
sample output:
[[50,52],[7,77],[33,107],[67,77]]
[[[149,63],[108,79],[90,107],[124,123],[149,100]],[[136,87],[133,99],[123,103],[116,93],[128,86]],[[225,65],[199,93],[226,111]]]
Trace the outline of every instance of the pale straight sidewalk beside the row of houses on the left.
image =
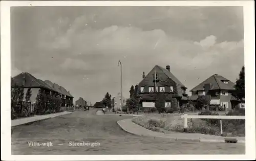
[[62,116],[64,114],[69,114],[72,112],[59,112],[59,113],[52,113],[52,114],[45,114],[45,115],[36,115],[33,117],[28,117],[28,118],[21,118],[21,119],[15,119],[11,121],[11,127],[18,126],[18,125],[23,125],[27,123],[33,123],[39,120],[46,120],[50,118],[55,118],[57,116]]

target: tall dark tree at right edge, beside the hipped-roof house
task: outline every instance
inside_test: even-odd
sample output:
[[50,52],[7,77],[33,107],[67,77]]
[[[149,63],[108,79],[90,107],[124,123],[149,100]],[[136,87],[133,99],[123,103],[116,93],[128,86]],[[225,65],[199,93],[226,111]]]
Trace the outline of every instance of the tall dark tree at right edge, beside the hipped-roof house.
[[242,100],[245,98],[245,75],[244,75],[244,66],[242,67],[240,73],[239,73],[239,79],[236,81],[236,85],[234,85],[234,92],[232,95],[236,97],[239,100]]

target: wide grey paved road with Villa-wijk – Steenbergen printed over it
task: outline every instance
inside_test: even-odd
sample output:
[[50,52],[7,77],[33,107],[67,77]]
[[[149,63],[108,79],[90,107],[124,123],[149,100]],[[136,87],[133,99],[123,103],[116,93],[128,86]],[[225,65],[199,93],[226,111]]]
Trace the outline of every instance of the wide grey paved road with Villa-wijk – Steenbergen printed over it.
[[[245,144],[181,143],[126,133],[117,125],[129,116],[96,116],[96,109],[13,128],[12,154],[244,154]],[[28,142],[52,142],[52,147]],[[69,142],[99,143],[69,146]],[[58,145],[63,144],[63,145]]]

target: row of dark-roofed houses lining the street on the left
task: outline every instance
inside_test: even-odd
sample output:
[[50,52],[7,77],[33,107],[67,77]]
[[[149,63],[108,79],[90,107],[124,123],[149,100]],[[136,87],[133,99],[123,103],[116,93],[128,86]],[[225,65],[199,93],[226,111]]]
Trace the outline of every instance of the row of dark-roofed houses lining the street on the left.
[[70,92],[64,87],[59,86],[57,83],[53,83],[50,80],[42,81],[27,72],[23,72],[11,78],[11,87],[13,88],[15,84],[24,88],[24,95],[27,93],[29,88],[31,89],[30,102],[32,105],[36,102],[36,96],[39,89],[44,90],[46,94],[51,96],[55,94],[59,95],[62,107],[69,107],[73,105],[74,97],[70,94]]

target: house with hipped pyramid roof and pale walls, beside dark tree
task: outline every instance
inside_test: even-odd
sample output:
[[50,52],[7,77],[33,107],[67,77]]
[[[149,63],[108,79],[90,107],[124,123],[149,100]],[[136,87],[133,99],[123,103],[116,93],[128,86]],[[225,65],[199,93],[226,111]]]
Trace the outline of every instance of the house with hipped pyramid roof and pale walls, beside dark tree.
[[239,103],[231,95],[234,91],[234,85],[233,82],[223,76],[214,74],[190,90],[192,93],[190,100],[196,101],[199,95],[204,95],[209,99],[210,105],[220,105],[225,110],[231,110],[235,104]]

